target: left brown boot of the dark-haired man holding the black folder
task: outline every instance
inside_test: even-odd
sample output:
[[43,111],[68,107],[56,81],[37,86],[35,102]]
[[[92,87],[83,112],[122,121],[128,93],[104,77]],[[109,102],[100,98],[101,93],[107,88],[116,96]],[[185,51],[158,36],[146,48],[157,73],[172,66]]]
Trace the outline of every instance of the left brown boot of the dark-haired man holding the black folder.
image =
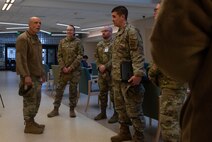
[[126,124],[121,124],[120,132],[118,133],[118,135],[111,137],[111,142],[122,142],[128,140],[132,140],[129,126],[127,126]]

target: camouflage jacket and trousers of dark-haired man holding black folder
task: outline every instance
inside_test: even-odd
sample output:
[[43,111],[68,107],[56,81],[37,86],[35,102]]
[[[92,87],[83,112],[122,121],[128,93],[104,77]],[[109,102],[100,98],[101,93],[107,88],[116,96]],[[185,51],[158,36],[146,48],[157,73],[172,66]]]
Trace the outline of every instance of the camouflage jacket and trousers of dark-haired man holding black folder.
[[[122,61],[131,60],[135,76],[144,75],[144,52],[142,39],[138,31],[126,24],[119,29],[112,48],[112,79],[114,83],[115,108],[119,114],[119,123],[132,125],[135,132],[144,138],[145,120],[142,111],[144,87],[142,84],[131,86],[130,83],[121,81],[120,64]],[[120,128],[121,131],[121,128]]]

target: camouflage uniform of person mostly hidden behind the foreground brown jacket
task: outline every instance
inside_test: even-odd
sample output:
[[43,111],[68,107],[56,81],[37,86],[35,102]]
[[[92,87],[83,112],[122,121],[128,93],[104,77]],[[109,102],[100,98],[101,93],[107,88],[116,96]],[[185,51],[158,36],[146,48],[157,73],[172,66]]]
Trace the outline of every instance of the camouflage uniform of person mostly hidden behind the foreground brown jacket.
[[179,142],[179,113],[186,97],[186,86],[164,75],[154,64],[148,75],[161,89],[160,125],[164,142]]

